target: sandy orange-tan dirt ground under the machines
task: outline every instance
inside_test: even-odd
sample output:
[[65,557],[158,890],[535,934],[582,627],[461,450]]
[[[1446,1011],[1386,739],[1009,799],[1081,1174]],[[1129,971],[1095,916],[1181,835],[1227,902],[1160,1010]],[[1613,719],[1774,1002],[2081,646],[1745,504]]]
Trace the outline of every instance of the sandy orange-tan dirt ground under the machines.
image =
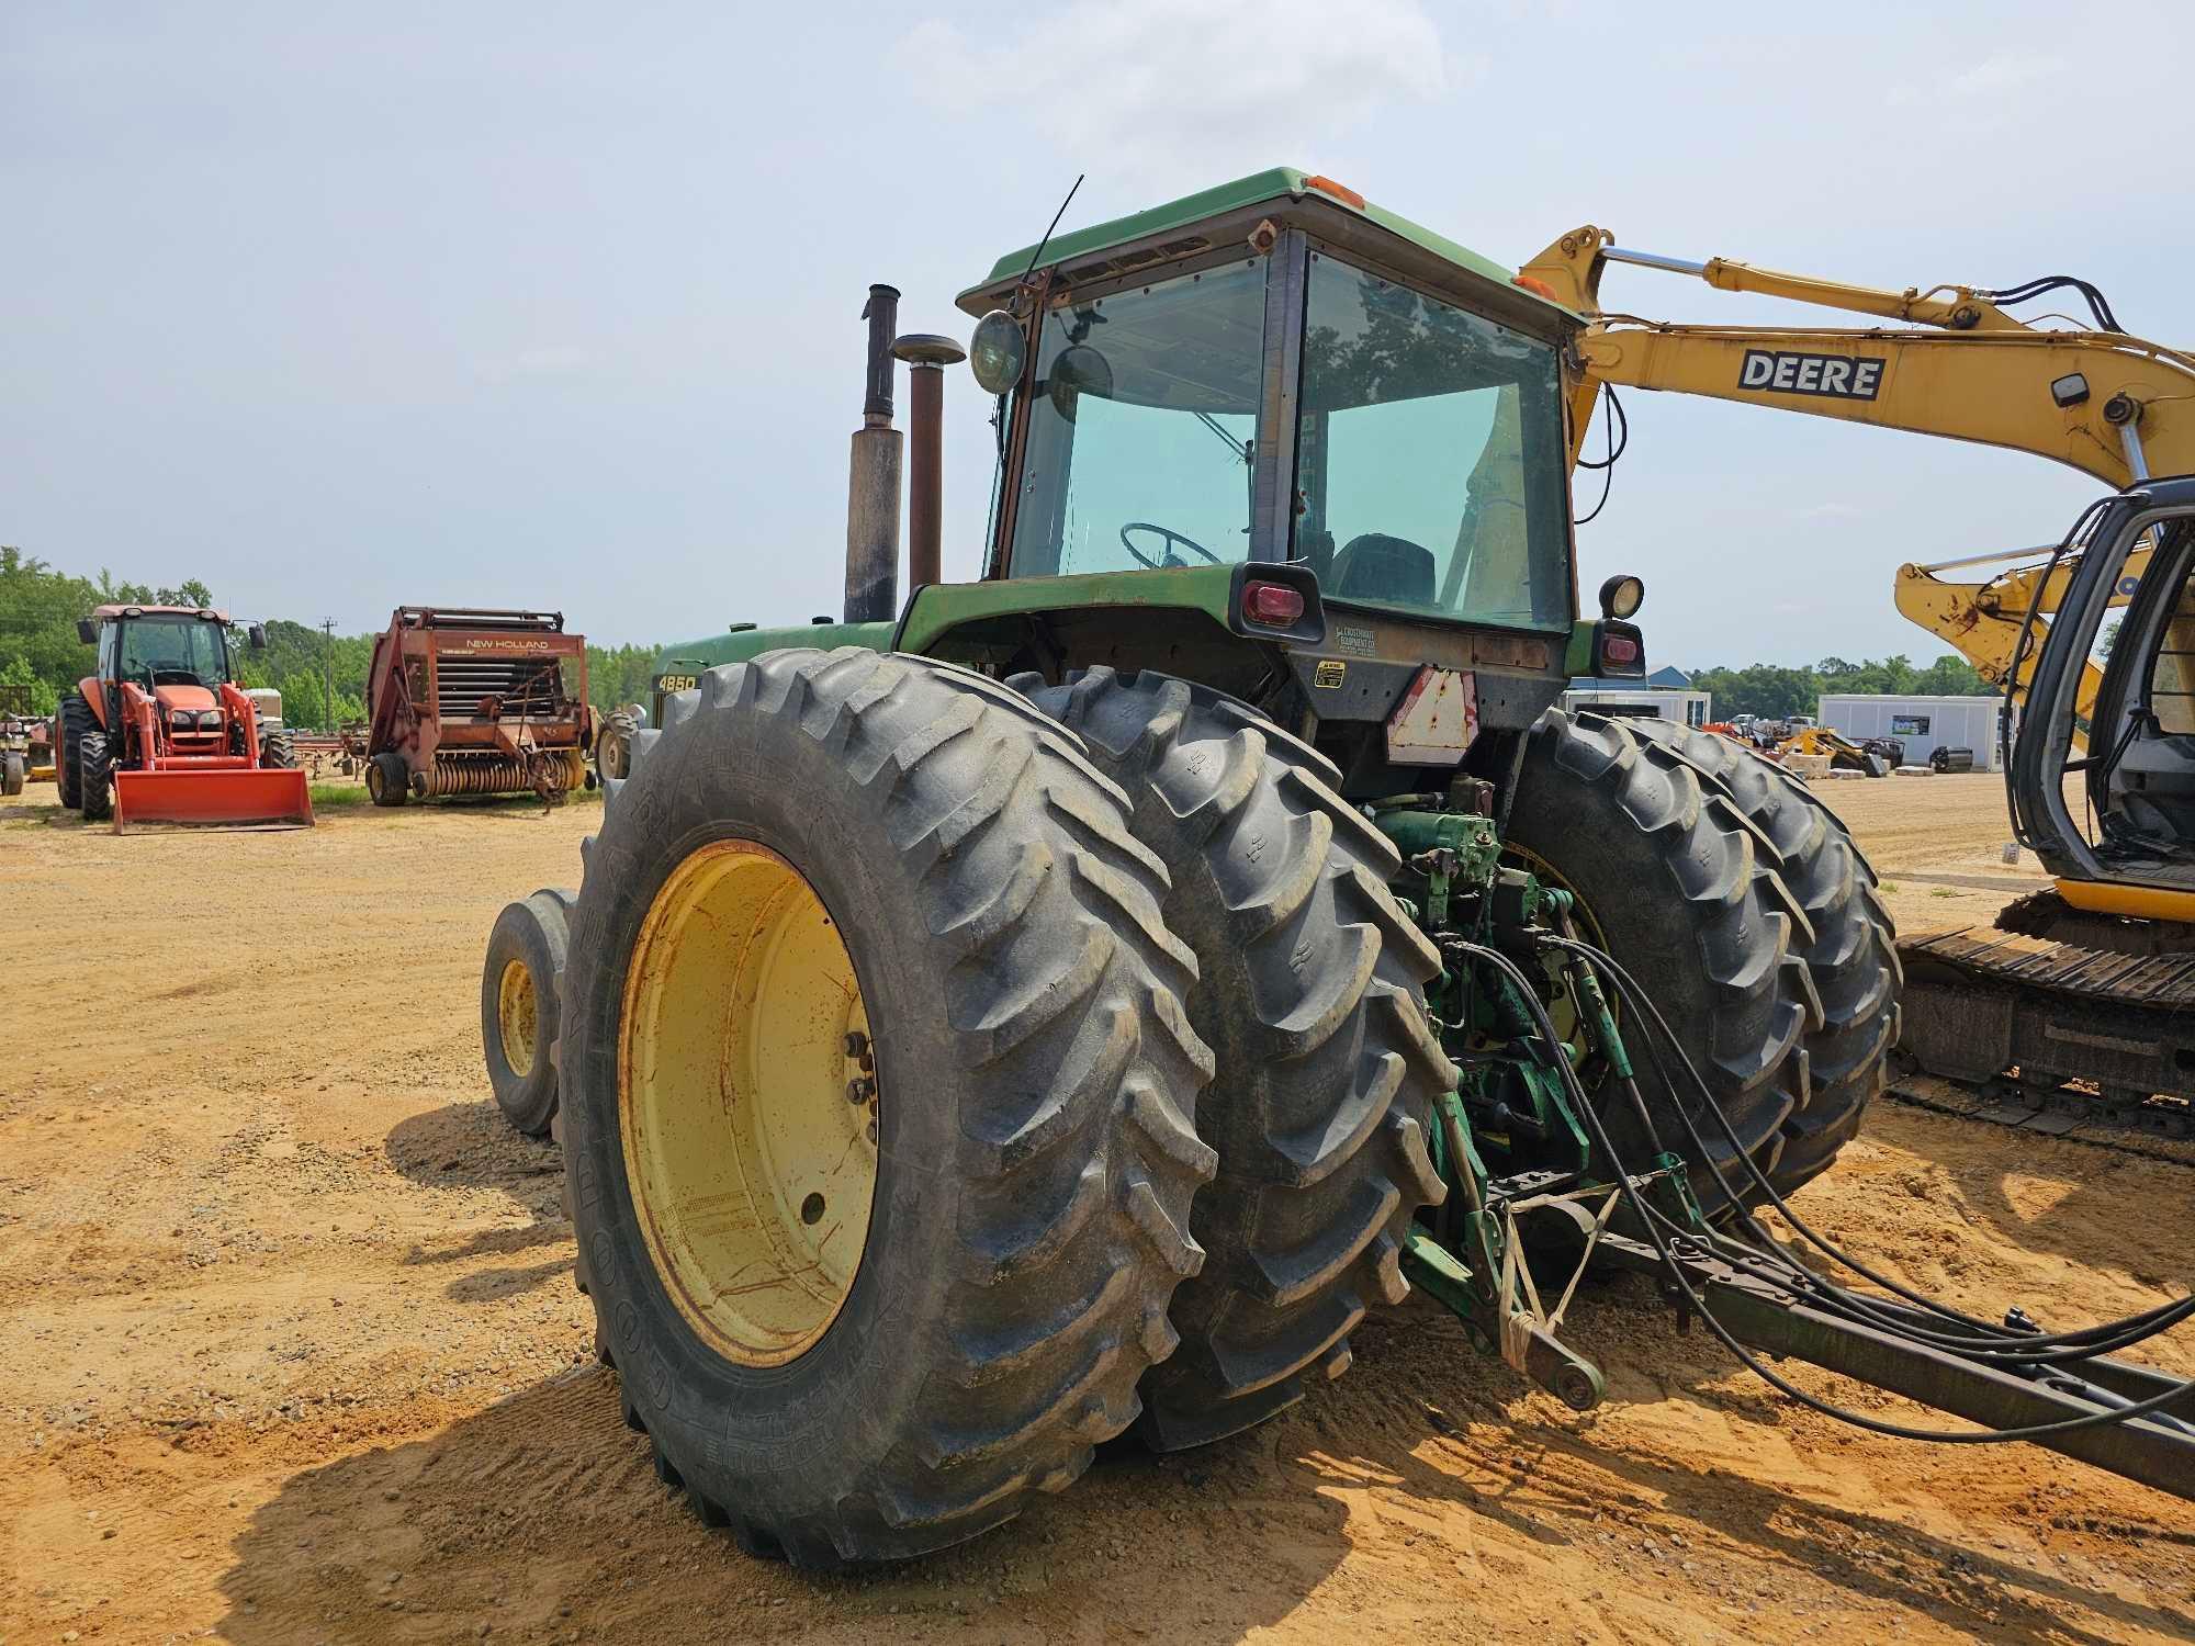
[[[1989,777],[1824,786],[1905,931],[1986,922]],[[2195,1637],[2195,1508],[1789,1407],[1644,1282],[1574,1416],[1425,1304],[1201,1453],[1122,1448],[948,1556],[810,1580],[656,1486],[496,1117],[479,957],[597,805],[134,834],[0,803],[0,1642]],[[1879,1104],[1802,1207],[2052,1326],[2188,1286],[2195,1170]],[[2147,1345],[2195,1372],[2195,1332]],[[1798,1369],[1888,1416],[1896,1400]]]

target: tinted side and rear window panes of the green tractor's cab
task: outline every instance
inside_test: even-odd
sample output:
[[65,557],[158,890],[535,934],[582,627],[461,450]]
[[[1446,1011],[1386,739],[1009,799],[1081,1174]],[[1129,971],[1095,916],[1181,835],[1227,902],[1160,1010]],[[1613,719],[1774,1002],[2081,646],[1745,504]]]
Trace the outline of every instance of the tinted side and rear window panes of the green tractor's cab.
[[[1330,601],[1569,625],[1550,342],[1310,255],[1291,533]],[[1260,538],[1267,259],[1045,316],[1016,577],[1234,564]],[[1260,546],[1260,555],[1271,553]]]

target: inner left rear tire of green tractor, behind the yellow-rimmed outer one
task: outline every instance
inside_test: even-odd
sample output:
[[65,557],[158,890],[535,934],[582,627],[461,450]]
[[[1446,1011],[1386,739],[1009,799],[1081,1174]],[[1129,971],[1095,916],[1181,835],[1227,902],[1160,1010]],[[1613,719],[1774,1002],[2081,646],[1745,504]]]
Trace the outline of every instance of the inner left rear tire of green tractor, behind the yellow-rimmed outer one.
[[1442,1183],[1433,1102],[1455,1084],[1425,1014],[1440,955],[1396,906],[1394,845],[1341,773],[1256,709],[1163,674],[1016,680],[1135,803],[1174,876],[1168,926],[1196,950],[1190,1025],[1218,1060],[1198,1135],[1203,1273],[1174,1293],[1181,1352],[1144,1378],[1161,1451],[1247,1429],[1339,1376]]

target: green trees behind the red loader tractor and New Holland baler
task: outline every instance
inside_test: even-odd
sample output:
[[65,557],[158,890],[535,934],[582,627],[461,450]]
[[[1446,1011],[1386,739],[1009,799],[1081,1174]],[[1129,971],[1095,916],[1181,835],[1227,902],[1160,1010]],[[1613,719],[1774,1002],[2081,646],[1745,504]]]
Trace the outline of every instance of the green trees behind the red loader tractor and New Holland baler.
[[[108,573],[75,577],[22,549],[0,544],[0,687],[31,687],[31,713],[50,715],[77,680],[92,672],[92,647],[77,639],[77,619],[94,606],[211,606],[213,593],[193,579],[176,586],[132,584]],[[248,687],[281,691],[283,720],[299,729],[334,729],[367,718],[367,669],[373,636],[325,634],[307,623],[268,619],[268,645],[237,641],[237,672]],[[654,645],[588,645],[586,696],[597,709],[645,702],[656,672]]]

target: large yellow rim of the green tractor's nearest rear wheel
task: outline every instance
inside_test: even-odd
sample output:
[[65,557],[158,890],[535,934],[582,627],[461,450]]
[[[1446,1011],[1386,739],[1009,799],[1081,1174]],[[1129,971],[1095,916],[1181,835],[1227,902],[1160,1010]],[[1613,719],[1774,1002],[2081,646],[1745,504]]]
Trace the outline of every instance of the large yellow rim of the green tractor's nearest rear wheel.
[[878,1119],[860,983],[808,878],[753,841],[687,856],[621,1027],[626,1181],[665,1290],[724,1358],[797,1358],[854,1290]]

